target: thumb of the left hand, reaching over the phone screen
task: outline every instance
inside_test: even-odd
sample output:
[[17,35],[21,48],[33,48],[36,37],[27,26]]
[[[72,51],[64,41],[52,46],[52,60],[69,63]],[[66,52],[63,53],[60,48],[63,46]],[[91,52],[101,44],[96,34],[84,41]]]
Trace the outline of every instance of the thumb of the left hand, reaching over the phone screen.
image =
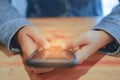
[[44,48],[49,48],[49,43],[48,41],[45,39],[45,37],[43,37],[43,35],[41,35],[39,30],[35,30],[34,33],[29,33],[28,34],[33,41],[35,41],[38,46],[43,46]]

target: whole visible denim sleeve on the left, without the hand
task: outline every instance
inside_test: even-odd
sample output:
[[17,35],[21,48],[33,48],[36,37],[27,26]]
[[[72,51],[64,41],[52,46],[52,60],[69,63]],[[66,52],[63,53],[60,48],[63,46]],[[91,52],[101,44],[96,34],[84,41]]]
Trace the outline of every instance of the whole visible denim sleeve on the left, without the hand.
[[[0,0],[0,41],[12,51],[18,51],[15,33],[31,23],[10,5],[10,0]],[[14,39],[13,39],[14,38]]]

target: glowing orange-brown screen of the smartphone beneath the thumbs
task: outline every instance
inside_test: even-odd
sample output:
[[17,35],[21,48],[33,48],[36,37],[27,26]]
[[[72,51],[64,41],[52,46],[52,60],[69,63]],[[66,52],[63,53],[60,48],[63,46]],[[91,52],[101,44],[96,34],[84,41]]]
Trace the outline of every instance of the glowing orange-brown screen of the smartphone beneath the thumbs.
[[39,49],[34,59],[74,59],[73,50],[63,50],[60,46],[51,46],[49,49]]

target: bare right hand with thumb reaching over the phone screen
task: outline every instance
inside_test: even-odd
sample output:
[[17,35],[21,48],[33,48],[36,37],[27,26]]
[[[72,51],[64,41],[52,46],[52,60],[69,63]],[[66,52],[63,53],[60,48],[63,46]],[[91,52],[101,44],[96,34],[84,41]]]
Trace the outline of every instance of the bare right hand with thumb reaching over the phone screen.
[[100,31],[87,31],[80,36],[68,41],[64,46],[67,48],[76,48],[77,59],[82,63],[90,55],[96,52],[98,49],[104,47],[106,44],[113,41],[113,38],[106,32]]

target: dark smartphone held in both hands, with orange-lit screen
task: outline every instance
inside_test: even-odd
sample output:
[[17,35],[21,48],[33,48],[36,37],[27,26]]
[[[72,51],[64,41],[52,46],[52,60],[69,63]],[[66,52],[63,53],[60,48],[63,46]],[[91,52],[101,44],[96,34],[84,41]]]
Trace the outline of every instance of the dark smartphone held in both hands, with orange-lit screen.
[[74,67],[77,63],[75,51],[73,49],[63,50],[60,46],[36,49],[25,61],[26,65],[36,68]]

